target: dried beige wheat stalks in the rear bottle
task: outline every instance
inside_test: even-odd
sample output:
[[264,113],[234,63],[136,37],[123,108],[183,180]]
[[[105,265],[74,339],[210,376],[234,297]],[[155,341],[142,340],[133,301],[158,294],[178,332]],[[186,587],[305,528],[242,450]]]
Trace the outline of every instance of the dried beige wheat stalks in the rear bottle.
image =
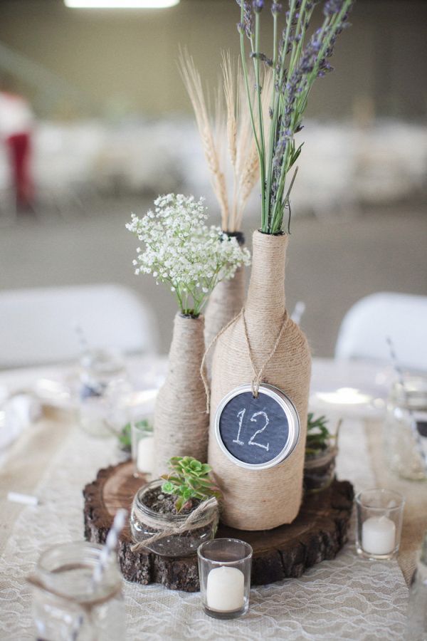
[[[240,65],[233,63],[230,53],[222,55],[221,99],[215,103],[214,117],[206,104],[201,77],[189,53],[181,52],[179,69],[193,105],[196,123],[211,174],[211,183],[221,208],[224,231],[241,229],[243,211],[259,175],[259,160],[253,137],[248,101],[243,90]],[[265,76],[263,111],[268,110],[270,74]],[[264,105],[265,103],[265,105]],[[215,125],[212,127],[211,123]],[[266,120],[267,121],[267,120]],[[231,198],[228,199],[225,179],[225,159],[221,153],[228,150],[233,168]]]

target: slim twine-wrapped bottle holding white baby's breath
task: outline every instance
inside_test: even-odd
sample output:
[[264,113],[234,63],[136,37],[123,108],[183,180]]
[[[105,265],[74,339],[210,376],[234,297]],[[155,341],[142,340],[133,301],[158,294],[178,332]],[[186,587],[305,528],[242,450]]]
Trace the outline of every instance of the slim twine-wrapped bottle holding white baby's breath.
[[154,410],[155,471],[167,471],[171,457],[206,461],[209,416],[200,366],[204,355],[204,317],[177,313],[169,366]]

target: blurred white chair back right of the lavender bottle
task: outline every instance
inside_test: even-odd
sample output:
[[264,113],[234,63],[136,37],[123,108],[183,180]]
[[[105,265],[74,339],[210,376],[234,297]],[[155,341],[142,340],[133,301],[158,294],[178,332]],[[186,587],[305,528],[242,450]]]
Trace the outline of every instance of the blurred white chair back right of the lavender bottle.
[[427,296],[381,292],[361,298],[342,320],[335,358],[390,362],[387,336],[401,365],[427,370]]

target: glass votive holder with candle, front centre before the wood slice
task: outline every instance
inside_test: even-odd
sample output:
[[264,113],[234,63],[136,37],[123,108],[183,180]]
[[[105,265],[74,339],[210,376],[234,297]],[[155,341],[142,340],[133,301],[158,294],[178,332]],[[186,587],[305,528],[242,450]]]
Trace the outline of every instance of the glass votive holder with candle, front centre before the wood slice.
[[216,619],[236,619],[248,611],[252,548],[238,538],[214,538],[197,549],[201,602]]

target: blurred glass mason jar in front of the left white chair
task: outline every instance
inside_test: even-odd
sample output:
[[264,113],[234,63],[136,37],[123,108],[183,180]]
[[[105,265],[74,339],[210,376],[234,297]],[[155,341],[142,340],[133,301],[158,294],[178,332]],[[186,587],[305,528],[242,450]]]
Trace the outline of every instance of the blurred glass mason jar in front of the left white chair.
[[[85,432],[109,436],[126,422],[130,393],[125,364],[113,350],[88,350],[80,359],[79,417]],[[118,428],[117,428],[117,431]]]

